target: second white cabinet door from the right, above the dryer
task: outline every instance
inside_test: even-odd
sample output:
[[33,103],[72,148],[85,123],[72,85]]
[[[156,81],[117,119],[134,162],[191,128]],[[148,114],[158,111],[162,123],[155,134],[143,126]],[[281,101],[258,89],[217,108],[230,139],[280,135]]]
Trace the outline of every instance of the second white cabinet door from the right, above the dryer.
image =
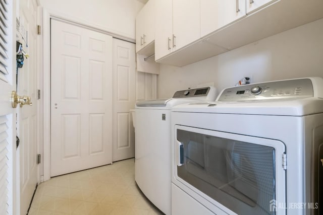
[[245,15],[246,0],[202,0],[201,37],[218,30]]

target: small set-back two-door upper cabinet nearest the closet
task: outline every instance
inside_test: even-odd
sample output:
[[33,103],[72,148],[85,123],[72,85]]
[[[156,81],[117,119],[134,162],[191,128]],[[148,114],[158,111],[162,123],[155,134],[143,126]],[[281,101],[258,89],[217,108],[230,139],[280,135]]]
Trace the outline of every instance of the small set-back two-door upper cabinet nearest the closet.
[[136,17],[136,52],[154,53],[155,0],[149,0]]

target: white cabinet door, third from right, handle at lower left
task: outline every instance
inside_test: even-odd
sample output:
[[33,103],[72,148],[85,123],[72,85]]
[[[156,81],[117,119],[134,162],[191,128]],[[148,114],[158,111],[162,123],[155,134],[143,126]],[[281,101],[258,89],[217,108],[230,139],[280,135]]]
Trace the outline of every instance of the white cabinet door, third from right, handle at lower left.
[[200,0],[173,0],[173,34],[174,50],[200,38]]

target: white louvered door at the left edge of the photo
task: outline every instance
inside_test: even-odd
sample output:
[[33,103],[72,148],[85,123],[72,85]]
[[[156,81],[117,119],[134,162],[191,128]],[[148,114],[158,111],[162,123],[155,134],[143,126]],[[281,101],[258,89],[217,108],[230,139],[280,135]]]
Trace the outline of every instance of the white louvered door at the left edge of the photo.
[[16,214],[16,112],[10,101],[16,90],[13,2],[0,0],[0,214]]

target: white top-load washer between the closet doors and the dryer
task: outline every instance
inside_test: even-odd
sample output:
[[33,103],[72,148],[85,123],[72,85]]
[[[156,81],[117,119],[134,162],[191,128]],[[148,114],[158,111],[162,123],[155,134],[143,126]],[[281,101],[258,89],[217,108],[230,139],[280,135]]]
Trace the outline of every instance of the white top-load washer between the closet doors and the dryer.
[[216,89],[177,91],[171,99],[140,101],[135,109],[135,181],[145,196],[171,214],[171,109],[192,101],[215,101]]

